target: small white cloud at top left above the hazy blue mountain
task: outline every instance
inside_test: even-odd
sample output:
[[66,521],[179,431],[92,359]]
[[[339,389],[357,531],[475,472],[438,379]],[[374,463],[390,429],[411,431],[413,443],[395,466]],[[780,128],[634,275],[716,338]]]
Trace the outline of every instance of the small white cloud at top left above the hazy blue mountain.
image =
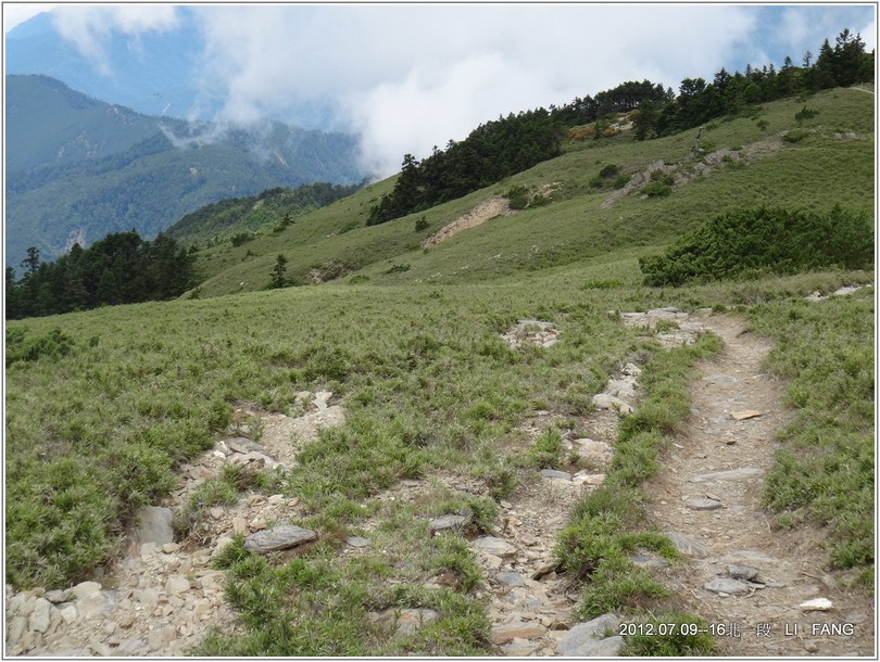
[[91,5],[60,4],[50,14],[59,34],[76,46],[102,76],[113,72],[104,44],[113,33],[133,37],[150,30],[177,27],[177,10],[172,5]]

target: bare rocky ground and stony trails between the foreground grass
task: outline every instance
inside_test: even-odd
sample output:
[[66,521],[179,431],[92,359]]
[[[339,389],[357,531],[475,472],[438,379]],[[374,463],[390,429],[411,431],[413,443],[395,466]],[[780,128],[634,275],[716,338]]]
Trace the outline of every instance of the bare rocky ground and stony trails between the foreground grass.
[[[814,298],[821,301],[821,295]],[[760,370],[769,343],[746,332],[743,322],[708,310],[690,316],[659,308],[621,318],[634,327],[662,324],[656,338],[667,346],[693,343],[703,330],[726,344],[718,357],[699,366],[689,428],[645,488],[653,523],[689,557],[683,566],[659,569],[658,577],[690,610],[715,624],[724,654],[871,654],[872,603],[840,590],[819,570],[818,533],[772,531],[758,507],[774,435],[791,417],[782,404],[783,384]],[[520,320],[502,338],[513,348],[550,347],[558,335],[550,322]],[[503,525],[494,535],[470,542],[483,574],[478,593],[487,604],[495,654],[618,653],[623,639],[602,638],[601,633],[615,629],[619,616],[576,622],[571,611],[579,595],[556,574],[553,549],[574,505],[604,481],[618,418],[638,406],[639,373],[637,366],[621,366],[594,396],[595,412],[578,422],[580,434],[563,434],[565,457],[578,458],[567,466],[571,471],[536,471],[501,500]],[[298,447],[319,428],[340,424],[344,411],[332,403],[331,393],[318,392],[300,394],[291,416],[247,409],[236,413],[241,434],[218,441],[181,468],[181,487],[165,502],[141,511],[127,552],[105,574],[67,590],[14,593],[7,587],[7,654],[177,657],[191,651],[213,627],[225,634],[241,627],[223,600],[224,577],[211,569],[212,557],[235,533],[246,534],[255,549],[309,539],[307,530],[275,524],[301,514],[298,499],[252,494],[235,506],[213,507],[202,536],[191,536],[186,546],[173,542],[172,518],[193,489],[227,464],[292,466]],[[552,411],[539,411],[520,430],[535,437],[560,420]],[[255,436],[254,427],[261,429],[259,444],[243,436]],[[415,501],[438,484],[451,493],[485,492],[477,481],[441,473],[401,481],[378,498]],[[431,530],[442,533],[462,524],[461,517],[447,515],[433,520]],[[357,555],[369,545],[370,523],[362,529],[364,536],[350,538],[341,553]],[[437,614],[403,610],[376,618],[393,618],[399,632],[408,632]],[[739,636],[729,636],[734,629]]]

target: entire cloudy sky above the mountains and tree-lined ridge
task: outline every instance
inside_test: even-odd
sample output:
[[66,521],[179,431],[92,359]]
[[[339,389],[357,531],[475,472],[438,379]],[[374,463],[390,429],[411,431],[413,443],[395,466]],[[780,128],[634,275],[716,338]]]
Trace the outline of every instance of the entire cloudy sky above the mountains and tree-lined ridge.
[[[844,27],[876,46],[873,4],[242,4],[194,5],[201,80],[219,119],[247,123],[313,103],[361,137],[381,176],[403,154],[462,140],[510,112],[564,104],[627,80],[678,89],[721,67],[800,64]],[[53,9],[54,8],[54,9]],[[53,9],[55,27],[112,74],[112,30],[137,38],[179,27],[172,4],[3,3],[4,29]],[[108,100],[112,101],[112,100]]]

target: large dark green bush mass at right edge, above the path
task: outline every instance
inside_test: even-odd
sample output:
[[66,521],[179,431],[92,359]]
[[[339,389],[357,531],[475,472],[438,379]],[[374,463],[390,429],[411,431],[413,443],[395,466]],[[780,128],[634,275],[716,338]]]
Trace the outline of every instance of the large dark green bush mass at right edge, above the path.
[[873,227],[840,205],[828,214],[759,207],[717,216],[664,254],[641,257],[646,285],[827,267],[869,269]]

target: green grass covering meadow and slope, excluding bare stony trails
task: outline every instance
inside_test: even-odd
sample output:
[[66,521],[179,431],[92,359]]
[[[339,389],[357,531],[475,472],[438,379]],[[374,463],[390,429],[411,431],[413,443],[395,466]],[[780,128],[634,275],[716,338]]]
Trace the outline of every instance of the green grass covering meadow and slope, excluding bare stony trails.
[[[762,158],[726,163],[667,198],[630,195],[603,209],[608,191],[589,182],[608,164],[637,173],[656,161],[689,162],[691,136],[573,143],[560,160],[426,212],[429,228],[422,232],[415,217],[356,225],[390,187],[378,182],[276,235],[205,252],[202,298],[10,322],[7,581],[49,588],[87,577],[112,558],[133,510],[173,488],[175,464],[210,447],[235,407],[287,411],[299,391],[326,389],[347,407],[347,423],[306,447],[281,485],[302,499],[307,515],[296,523],[317,530],[320,544],[285,564],[231,547],[223,560],[227,597],[250,635],[217,634],[205,652],[485,652],[488,622],[474,595],[479,569],[463,540],[426,535],[424,518],[466,509],[483,526],[498,525],[492,497],[524,475],[512,459],[528,444],[517,422],[538,409],[588,413],[592,395],[620,362],[675,374],[677,389],[686,387],[682,366],[693,357],[665,366],[650,335],[608,314],[677,305],[725,306],[777,339],[771,367],[792,380],[790,402],[802,415],[785,433],[767,505],[779,511],[779,525],[828,526],[841,543],[829,549],[829,563],[855,569],[855,580],[868,584],[872,295],[821,307],[802,300],[814,290],[872,282],[873,273],[829,270],[658,289],[642,285],[638,269],[640,256],[726,209],[764,202],[872,213],[872,97],[832,90],[806,103],[818,111],[804,125],[815,132]],[[744,148],[796,128],[803,105],[774,103],[757,116],[720,122],[704,137],[716,149]],[[493,219],[427,252],[418,247],[480,200],[514,183],[546,182],[561,182],[551,204]],[[256,291],[278,253],[301,278],[332,260],[349,260],[352,270],[332,283]],[[363,277],[360,284],[351,284],[353,276]],[[561,342],[508,349],[499,333],[520,318],[554,322]],[[679,405],[657,407],[674,420]],[[639,443],[653,433],[625,434],[625,442]],[[643,468],[619,469],[618,487],[638,487]],[[486,497],[453,504],[437,486],[416,507],[376,499],[401,479],[437,472],[482,481]],[[846,498],[853,492],[858,499]],[[638,499],[620,505],[632,507],[625,523],[638,535]],[[344,536],[368,517],[379,518],[387,552],[357,565],[331,562]],[[449,587],[420,588],[440,571],[454,577]],[[615,594],[596,599],[607,595]],[[366,618],[408,607],[441,618],[393,642]]]

